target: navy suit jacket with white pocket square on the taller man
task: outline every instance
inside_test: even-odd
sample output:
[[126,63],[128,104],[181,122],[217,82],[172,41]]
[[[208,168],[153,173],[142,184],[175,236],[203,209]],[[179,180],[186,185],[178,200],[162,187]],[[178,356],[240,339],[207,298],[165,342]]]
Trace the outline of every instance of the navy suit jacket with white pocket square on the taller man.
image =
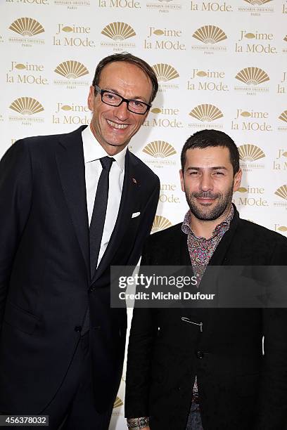
[[90,280],[82,129],[25,138],[1,160],[1,411],[39,413],[56,395],[88,304],[99,411],[113,402],[120,382],[127,319],[125,309],[110,308],[110,266],[138,261],[159,181],[127,151],[115,228]]

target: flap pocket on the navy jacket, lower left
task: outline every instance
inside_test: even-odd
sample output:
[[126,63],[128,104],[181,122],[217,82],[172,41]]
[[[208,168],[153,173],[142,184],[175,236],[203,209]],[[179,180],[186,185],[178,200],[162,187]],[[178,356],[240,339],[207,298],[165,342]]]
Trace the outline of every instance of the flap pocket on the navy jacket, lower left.
[[39,323],[39,318],[36,315],[19,308],[17,305],[11,303],[11,301],[7,301],[4,321],[8,325],[16,327],[21,332],[33,334],[37,323]]

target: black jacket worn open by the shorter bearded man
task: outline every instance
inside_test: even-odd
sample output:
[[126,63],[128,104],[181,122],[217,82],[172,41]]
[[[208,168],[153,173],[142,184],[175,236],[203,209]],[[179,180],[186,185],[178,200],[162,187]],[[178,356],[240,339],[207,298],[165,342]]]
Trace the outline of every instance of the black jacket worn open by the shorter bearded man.
[[[236,211],[210,265],[286,262],[286,238]],[[148,238],[142,265],[188,264],[181,223]],[[203,322],[203,332],[181,316]],[[184,430],[196,375],[204,430],[286,429],[287,309],[135,308],[126,416],[149,416],[151,430]]]

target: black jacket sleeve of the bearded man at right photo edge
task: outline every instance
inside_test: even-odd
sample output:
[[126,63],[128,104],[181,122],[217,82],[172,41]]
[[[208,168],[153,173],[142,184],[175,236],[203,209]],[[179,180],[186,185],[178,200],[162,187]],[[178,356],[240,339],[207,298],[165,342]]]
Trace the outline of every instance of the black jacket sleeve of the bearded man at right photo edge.
[[[286,266],[287,240],[276,243],[271,266]],[[286,287],[287,288],[287,287]],[[287,429],[287,308],[262,311],[264,357],[255,430]]]

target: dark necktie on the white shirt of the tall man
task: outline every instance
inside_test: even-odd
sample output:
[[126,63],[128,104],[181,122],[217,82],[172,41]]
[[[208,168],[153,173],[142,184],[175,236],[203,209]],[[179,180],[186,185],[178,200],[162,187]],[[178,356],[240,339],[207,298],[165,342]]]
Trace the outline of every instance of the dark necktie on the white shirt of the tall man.
[[100,162],[103,169],[101,171],[101,176],[98,179],[98,187],[96,188],[94,209],[93,214],[91,216],[91,223],[89,228],[91,279],[96,272],[98,254],[100,252],[101,247],[103,226],[105,224],[108,204],[108,176],[110,173],[110,167],[112,166],[112,163],[114,161],[115,159],[112,157],[100,158]]

